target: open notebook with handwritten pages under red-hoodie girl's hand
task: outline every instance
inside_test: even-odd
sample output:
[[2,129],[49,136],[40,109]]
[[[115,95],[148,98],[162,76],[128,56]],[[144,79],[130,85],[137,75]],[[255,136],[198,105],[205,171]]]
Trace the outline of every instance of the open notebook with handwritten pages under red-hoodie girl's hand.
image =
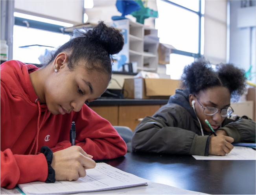
[[18,184],[26,195],[59,195],[89,191],[128,188],[147,185],[149,180],[126,173],[105,163],[96,163],[94,169],[87,169],[87,175],[77,181],[59,181],[46,184],[31,182]]

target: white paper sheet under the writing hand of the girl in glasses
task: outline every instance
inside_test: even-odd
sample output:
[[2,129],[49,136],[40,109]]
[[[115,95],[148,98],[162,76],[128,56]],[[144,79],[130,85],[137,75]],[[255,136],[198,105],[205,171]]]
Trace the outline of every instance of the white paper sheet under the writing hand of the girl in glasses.
[[192,155],[196,160],[256,160],[256,151],[250,147],[236,146],[225,156],[197,156]]

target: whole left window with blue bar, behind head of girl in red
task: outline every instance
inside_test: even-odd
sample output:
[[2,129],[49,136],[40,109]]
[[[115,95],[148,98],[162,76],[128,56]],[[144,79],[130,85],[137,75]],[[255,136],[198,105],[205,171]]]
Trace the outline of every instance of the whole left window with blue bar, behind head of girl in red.
[[[14,13],[13,59],[23,63],[42,64],[44,55],[70,40],[70,35],[63,31],[69,23],[48,20],[21,13]],[[41,57],[41,58],[39,58]],[[40,59],[40,60],[39,60]]]

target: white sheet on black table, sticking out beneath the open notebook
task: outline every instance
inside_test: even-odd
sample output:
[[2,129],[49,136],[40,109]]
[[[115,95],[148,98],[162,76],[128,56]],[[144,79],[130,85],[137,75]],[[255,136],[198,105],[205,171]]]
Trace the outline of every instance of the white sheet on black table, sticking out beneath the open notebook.
[[97,191],[79,193],[77,195],[209,195],[197,191],[175,188],[165,184],[147,182],[148,186],[140,186],[134,188],[115,189],[109,191]]

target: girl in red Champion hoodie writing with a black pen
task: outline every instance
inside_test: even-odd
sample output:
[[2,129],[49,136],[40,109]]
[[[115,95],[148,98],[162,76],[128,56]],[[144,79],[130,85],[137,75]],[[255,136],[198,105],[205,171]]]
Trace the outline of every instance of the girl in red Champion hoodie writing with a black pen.
[[[100,22],[61,46],[43,68],[0,65],[0,187],[77,180],[94,160],[125,155],[112,125],[85,105],[106,90],[111,55],[123,43],[118,30]],[[72,121],[76,146],[70,147]]]

